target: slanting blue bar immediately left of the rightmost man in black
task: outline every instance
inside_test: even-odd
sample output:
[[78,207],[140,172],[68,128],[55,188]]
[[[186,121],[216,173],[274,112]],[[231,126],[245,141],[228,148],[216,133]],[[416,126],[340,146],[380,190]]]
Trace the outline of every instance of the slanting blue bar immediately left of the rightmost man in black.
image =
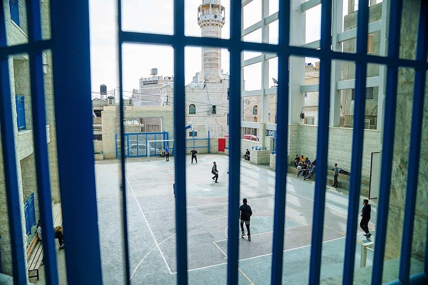
[[361,184],[362,146],[364,141],[365,94],[367,77],[368,0],[358,2],[356,82],[352,162],[349,189],[348,221],[345,242],[343,285],[354,281],[355,247],[357,241],[358,207]]

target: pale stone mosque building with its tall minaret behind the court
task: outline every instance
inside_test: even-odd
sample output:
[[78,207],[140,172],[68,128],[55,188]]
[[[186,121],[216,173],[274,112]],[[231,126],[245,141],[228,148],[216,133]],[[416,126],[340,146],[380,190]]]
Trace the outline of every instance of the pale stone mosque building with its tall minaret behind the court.
[[[224,7],[220,0],[203,0],[198,8],[202,37],[221,38],[224,21]],[[222,137],[229,133],[229,75],[222,73],[219,48],[202,48],[201,70],[185,89],[186,122],[193,127],[187,135],[207,137],[210,131],[211,137]],[[173,82],[162,88],[162,105],[172,106],[173,88]]]

